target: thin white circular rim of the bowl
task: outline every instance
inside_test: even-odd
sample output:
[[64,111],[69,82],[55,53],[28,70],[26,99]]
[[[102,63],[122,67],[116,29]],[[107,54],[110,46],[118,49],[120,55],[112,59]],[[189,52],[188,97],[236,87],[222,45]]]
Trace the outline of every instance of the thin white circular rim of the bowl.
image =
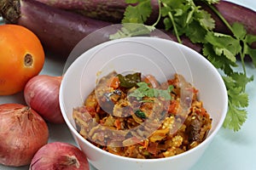
[[[66,113],[64,105],[63,105],[63,99],[62,99],[63,98],[64,81],[61,81],[60,95],[59,95],[61,114],[62,114],[62,116],[63,116],[63,118],[64,118],[64,120],[65,120],[65,122],[67,124],[67,127],[75,135],[75,137],[79,138],[83,143],[89,145],[91,147],[91,149],[97,150],[97,151],[101,152],[102,155],[111,156],[114,159],[120,159],[120,160],[125,160],[125,161],[136,161],[136,162],[149,162],[149,161],[150,162],[154,162],[154,161],[170,161],[170,160],[175,160],[175,159],[177,159],[177,158],[179,158],[181,156],[189,155],[191,152],[194,152],[195,150],[201,149],[202,147],[204,147],[205,144],[209,144],[212,141],[212,139],[216,136],[216,134],[218,133],[219,129],[222,127],[222,125],[224,123],[224,118],[225,118],[225,116],[227,114],[227,111],[228,111],[228,94],[227,94],[227,90],[226,90],[224,81],[223,81],[220,73],[212,65],[212,63],[209,60],[207,60],[204,56],[202,56],[201,54],[196,52],[194,49],[189,48],[189,47],[187,47],[187,46],[185,46],[185,45],[183,45],[181,43],[174,42],[172,40],[167,40],[167,39],[163,39],[163,38],[159,38],[159,37],[125,37],[125,38],[121,38],[121,39],[117,39],[117,40],[112,40],[112,41],[108,41],[108,42],[102,42],[102,43],[96,45],[95,47],[88,49],[83,54],[79,55],[79,57],[77,59],[75,59],[71,65],[69,65],[69,67],[67,68],[67,71],[69,71],[69,68],[72,65],[74,65],[74,63],[76,63],[76,61],[79,58],[84,57],[85,54],[89,53],[89,51],[94,51],[97,48],[104,47],[108,43],[119,42],[119,41],[121,42],[121,41],[125,41],[125,40],[133,40],[133,41],[134,40],[139,40],[139,41],[142,41],[143,38],[150,38],[153,41],[162,41],[162,42],[170,43],[170,44],[172,43],[172,44],[176,45],[177,47],[182,48],[182,50],[187,50],[187,51],[189,51],[189,53],[195,54],[193,56],[196,56],[196,58],[198,58],[198,59],[202,59],[203,62],[206,63],[206,65],[209,66],[211,68],[211,70],[215,72],[215,74],[217,75],[218,79],[220,80],[219,81],[220,82],[220,87],[223,87],[222,88],[222,90],[223,90],[222,93],[223,93],[223,96],[224,96],[224,110],[221,113],[221,118],[219,119],[219,122],[217,123],[217,126],[215,127],[215,129],[212,130],[212,133],[207,135],[207,138],[204,141],[202,141],[201,144],[198,144],[195,148],[192,148],[190,150],[186,150],[185,152],[183,152],[181,154],[178,154],[178,155],[175,155],[175,156],[169,156],[169,157],[164,157],[164,158],[153,158],[153,159],[140,159],[140,158],[131,158],[131,157],[125,157],[125,156],[118,156],[118,155],[112,154],[112,153],[110,153],[110,152],[108,152],[106,150],[102,150],[102,149],[96,147],[96,145],[91,144],[87,139],[84,139],[84,137],[82,137],[79,134],[79,132],[75,129],[75,127],[73,127],[73,124],[69,121],[69,119],[67,117],[67,113]],[[64,78],[65,78],[65,74],[63,75],[63,79]],[[73,138],[74,138],[74,136],[73,136]],[[76,139],[75,139],[75,142],[78,144]]]

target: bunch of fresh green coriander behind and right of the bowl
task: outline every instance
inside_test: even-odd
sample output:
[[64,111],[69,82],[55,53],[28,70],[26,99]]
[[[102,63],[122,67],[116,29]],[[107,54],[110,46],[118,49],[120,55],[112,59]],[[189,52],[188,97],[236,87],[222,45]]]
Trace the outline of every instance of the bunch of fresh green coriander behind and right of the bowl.
[[[248,94],[246,87],[253,77],[247,77],[245,57],[248,56],[256,65],[256,49],[250,47],[256,42],[256,36],[247,34],[240,23],[233,26],[214,7],[219,0],[158,0],[159,16],[152,26],[144,25],[152,14],[150,0],[126,0],[128,4],[122,23],[138,23],[135,27],[124,25],[111,39],[132,37],[148,34],[163,22],[166,31],[172,31],[177,37],[177,42],[182,43],[181,36],[189,37],[193,43],[200,43],[202,54],[222,74],[229,96],[229,111],[224,121],[224,127],[238,131],[247,119]],[[215,32],[215,20],[211,14],[197,5],[198,2],[206,3],[212,11],[228,27],[231,35]],[[240,58],[242,71],[238,67],[237,57]]]

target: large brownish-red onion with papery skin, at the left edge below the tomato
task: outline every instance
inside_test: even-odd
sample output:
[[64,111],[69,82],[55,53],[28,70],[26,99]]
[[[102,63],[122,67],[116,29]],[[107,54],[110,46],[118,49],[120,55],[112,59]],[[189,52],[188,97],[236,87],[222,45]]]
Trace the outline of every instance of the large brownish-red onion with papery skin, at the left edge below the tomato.
[[20,104],[0,105],[0,163],[28,165],[34,154],[47,144],[49,130],[44,119]]

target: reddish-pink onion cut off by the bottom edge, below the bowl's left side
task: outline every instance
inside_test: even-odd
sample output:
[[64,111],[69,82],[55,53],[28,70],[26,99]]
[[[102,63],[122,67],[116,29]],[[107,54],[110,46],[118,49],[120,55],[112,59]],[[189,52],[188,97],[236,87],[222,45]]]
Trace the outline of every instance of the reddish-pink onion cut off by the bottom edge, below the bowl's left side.
[[32,158],[30,170],[89,170],[87,157],[73,144],[53,142],[45,144]]

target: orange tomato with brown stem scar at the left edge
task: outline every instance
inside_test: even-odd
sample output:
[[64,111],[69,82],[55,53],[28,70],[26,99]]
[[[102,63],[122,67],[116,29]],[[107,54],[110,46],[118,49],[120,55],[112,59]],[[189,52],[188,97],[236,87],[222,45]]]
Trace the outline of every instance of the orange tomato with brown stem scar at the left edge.
[[23,26],[0,26],[0,95],[16,94],[44,66],[44,48]]

